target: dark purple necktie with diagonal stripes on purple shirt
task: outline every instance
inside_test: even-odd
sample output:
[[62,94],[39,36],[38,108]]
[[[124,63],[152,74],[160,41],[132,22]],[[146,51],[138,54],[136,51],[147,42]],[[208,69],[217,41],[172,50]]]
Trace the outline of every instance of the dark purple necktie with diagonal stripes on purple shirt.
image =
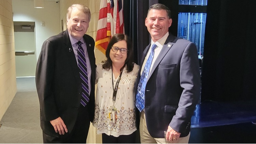
[[78,67],[80,69],[79,73],[82,81],[81,104],[83,106],[86,106],[89,102],[89,85],[88,85],[88,74],[87,74],[87,67],[86,67],[86,60],[85,60],[85,52],[81,46],[82,45],[81,41],[78,41],[77,44],[78,44],[78,51],[77,51]]

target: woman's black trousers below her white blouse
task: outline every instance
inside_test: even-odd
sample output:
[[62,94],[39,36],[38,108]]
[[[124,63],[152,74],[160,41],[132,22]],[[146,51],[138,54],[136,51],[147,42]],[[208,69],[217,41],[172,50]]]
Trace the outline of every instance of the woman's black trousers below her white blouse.
[[135,132],[130,135],[120,135],[118,137],[102,134],[103,144],[135,144]]

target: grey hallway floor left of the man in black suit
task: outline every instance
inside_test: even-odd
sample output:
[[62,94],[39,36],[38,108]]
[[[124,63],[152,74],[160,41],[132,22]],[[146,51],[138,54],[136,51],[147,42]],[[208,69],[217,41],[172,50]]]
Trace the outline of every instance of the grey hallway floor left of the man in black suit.
[[0,143],[43,143],[35,78],[16,81],[17,93],[0,122]]

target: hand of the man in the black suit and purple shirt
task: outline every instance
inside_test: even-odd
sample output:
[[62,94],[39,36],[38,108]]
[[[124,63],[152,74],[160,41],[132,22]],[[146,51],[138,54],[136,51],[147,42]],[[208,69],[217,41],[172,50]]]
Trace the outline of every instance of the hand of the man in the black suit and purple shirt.
[[[54,130],[56,133],[58,133],[58,132],[59,132],[59,134],[65,134],[65,132],[67,133],[67,127],[61,117],[58,117],[54,120],[50,120],[50,122],[51,122],[52,126],[54,127]],[[64,130],[65,130],[65,132],[64,132]]]

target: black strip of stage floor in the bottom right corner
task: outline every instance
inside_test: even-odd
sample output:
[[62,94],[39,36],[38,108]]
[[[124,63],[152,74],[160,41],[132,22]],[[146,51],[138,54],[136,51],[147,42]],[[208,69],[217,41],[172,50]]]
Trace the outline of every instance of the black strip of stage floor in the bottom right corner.
[[189,143],[256,143],[256,125],[252,122],[192,128]]

